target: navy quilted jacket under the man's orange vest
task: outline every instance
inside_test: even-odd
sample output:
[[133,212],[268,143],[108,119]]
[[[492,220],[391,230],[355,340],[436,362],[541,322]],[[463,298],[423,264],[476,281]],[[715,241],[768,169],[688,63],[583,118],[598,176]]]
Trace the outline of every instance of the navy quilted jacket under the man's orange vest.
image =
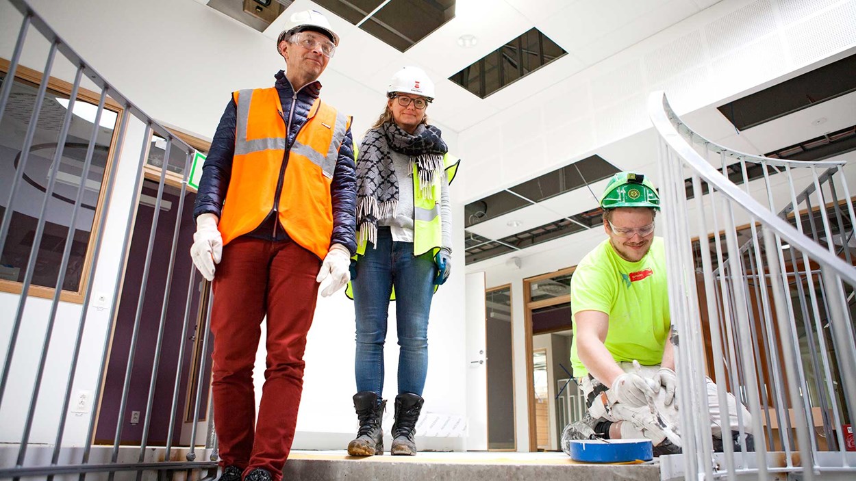
[[[282,113],[288,118],[288,112],[294,108],[294,117],[286,140],[284,159],[286,163],[288,162],[288,151],[294,145],[300,128],[306,124],[306,115],[312,107],[312,103],[318,98],[320,89],[321,84],[316,81],[304,86],[295,94],[294,88],[282,70],[276,73],[276,91],[279,92],[279,99],[282,102]],[[199,214],[205,213],[220,217],[223,210],[223,200],[226,199],[226,190],[229,188],[229,178],[232,173],[232,157],[235,156],[236,117],[235,100],[229,98],[229,104],[226,105],[223,117],[220,118],[220,124],[217,125],[214,140],[211,141],[211,151],[208,152],[208,157],[205,159],[202,168],[199,192],[196,195],[196,204],[193,206],[194,219]],[[288,169],[288,164],[286,164],[286,169]],[[339,148],[339,159],[336,162],[333,183],[330,185],[330,197],[333,204],[333,235],[330,236],[330,245],[342,244],[342,246],[348,247],[351,255],[354,255],[357,250],[354,235],[356,230],[356,173],[354,140],[351,138],[350,128],[348,128],[345,140]],[[265,224],[272,222],[275,222],[273,217],[268,217],[265,220]],[[274,229],[256,229],[248,235],[256,238],[267,238],[270,241],[282,240],[279,235],[276,239],[273,237]]]

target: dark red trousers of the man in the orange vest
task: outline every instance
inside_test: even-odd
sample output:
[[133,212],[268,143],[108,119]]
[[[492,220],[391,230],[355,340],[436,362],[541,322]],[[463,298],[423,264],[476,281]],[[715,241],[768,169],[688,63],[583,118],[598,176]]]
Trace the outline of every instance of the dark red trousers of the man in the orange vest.
[[[214,276],[211,392],[221,466],[282,478],[303,390],[303,352],[318,294],[318,256],[294,241],[241,237]],[[267,317],[265,385],[256,419],[253,366]]]

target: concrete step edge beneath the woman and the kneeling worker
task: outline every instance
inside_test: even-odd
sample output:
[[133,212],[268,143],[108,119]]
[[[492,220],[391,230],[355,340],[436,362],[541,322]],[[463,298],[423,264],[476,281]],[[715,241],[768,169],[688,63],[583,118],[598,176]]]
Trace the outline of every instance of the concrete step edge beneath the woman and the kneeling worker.
[[656,463],[592,465],[563,453],[432,453],[366,458],[345,451],[292,451],[282,481],[659,481]]

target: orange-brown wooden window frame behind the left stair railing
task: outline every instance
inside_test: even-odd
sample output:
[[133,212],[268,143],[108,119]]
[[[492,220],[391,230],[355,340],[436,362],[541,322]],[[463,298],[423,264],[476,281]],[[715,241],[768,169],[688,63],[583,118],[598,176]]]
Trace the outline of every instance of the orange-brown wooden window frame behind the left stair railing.
[[[4,80],[5,77],[9,75],[9,60],[5,58],[0,58],[0,72],[3,73]],[[38,87],[41,85],[43,74],[38,70],[33,68],[25,67],[24,65],[18,64],[15,68],[15,78],[12,81],[20,81],[22,83],[28,84],[30,86]],[[68,83],[65,80],[57,79],[56,77],[48,78],[48,92],[55,93],[58,95],[64,95],[67,97],[71,96],[73,85]],[[92,92],[82,86],[78,87],[77,92],[77,100],[83,100],[90,104],[98,105],[98,101],[101,98],[101,94],[98,92]],[[86,256],[83,261],[83,269],[80,271],[80,284],[78,286],[77,291],[69,291],[62,289],[60,293],[59,300],[64,302],[69,302],[72,304],[83,304],[85,300],[86,288],[88,288],[88,278],[90,270],[92,269],[92,258],[94,257],[94,239],[98,238],[98,235],[101,232],[101,229],[104,227],[99,223],[102,210],[104,209],[104,181],[110,176],[110,172],[115,168],[114,161],[116,156],[116,144],[119,140],[119,132],[118,126],[122,122],[122,116],[125,114],[125,110],[122,109],[122,106],[116,103],[110,97],[104,98],[104,109],[110,110],[116,113],[116,124],[113,127],[113,136],[110,138],[110,150],[107,153],[107,163],[104,166],[104,177],[102,177],[102,188],[98,190],[98,204],[96,205],[92,229],[89,232],[89,241],[86,244]],[[12,208],[12,206],[9,206]],[[66,239],[68,242],[68,239]],[[0,279],[0,292],[9,293],[9,294],[21,294],[23,290],[23,282],[17,281],[7,281],[5,279]],[[32,297],[38,297],[41,299],[53,299],[56,293],[56,288],[45,288],[44,286],[36,286],[31,284],[29,290],[27,291],[27,295]]]

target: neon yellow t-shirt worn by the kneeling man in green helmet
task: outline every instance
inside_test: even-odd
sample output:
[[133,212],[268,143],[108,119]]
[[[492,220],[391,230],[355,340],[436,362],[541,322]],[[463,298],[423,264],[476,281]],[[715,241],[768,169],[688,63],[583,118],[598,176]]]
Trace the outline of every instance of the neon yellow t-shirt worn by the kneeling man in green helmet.
[[641,365],[660,364],[671,324],[663,238],[655,237],[639,262],[621,258],[607,239],[577,265],[571,278],[574,377],[588,374],[577,356],[574,316],[580,311],[609,315],[605,344],[615,362],[637,359]]

